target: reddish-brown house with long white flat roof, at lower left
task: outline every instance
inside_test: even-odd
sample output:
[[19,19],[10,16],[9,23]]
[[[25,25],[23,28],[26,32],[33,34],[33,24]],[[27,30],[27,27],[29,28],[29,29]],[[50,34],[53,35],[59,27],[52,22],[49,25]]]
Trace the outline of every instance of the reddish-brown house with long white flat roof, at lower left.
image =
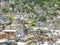
[[3,30],[6,35],[6,38],[11,41],[11,40],[16,40],[17,38],[17,30]]

